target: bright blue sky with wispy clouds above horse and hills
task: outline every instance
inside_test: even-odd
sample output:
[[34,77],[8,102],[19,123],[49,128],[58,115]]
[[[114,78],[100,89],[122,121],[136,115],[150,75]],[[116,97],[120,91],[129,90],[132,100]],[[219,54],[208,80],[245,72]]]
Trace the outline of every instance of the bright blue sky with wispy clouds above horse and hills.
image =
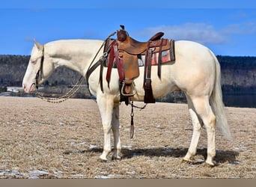
[[135,40],[163,31],[165,38],[192,40],[216,55],[256,56],[255,0],[4,0],[0,55],[30,55],[34,39],[105,40],[119,25]]

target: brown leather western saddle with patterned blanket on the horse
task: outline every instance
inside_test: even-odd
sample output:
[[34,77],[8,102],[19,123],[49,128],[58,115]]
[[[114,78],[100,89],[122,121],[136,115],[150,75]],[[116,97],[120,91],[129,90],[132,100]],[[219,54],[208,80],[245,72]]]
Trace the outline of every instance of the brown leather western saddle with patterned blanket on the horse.
[[106,41],[106,81],[109,84],[112,68],[118,68],[121,101],[126,104],[129,103],[129,97],[136,93],[133,80],[139,76],[139,66],[144,66],[144,102],[155,102],[151,87],[151,66],[158,66],[157,75],[161,79],[161,65],[175,61],[174,40],[163,39],[163,35],[163,32],[158,32],[147,42],[139,42],[129,37],[124,25],[121,25],[117,39],[109,38]]

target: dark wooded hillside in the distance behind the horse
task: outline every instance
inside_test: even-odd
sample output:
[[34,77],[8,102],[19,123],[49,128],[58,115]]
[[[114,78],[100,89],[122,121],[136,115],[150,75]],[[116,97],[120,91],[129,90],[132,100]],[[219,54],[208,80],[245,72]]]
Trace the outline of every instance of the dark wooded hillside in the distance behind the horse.
[[[256,93],[256,57],[216,56],[222,69],[223,94],[255,94]],[[22,78],[28,65],[29,55],[0,55],[0,92],[7,86],[22,86]],[[60,88],[66,91],[79,79],[79,73],[60,67],[43,84],[47,89]],[[55,89],[56,90],[56,89]],[[85,98],[88,98],[85,93]],[[186,102],[183,93],[169,93],[158,99],[162,102]]]

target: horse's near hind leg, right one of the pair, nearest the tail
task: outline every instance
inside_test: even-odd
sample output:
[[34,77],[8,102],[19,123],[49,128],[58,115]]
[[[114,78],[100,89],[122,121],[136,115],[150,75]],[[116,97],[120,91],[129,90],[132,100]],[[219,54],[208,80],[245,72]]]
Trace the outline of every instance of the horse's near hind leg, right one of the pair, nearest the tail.
[[212,108],[209,103],[209,96],[197,96],[191,97],[192,103],[195,107],[195,111],[199,117],[203,120],[204,126],[207,129],[207,160],[209,165],[213,164],[213,158],[216,155],[215,148],[215,126],[216,117],[213,114]]

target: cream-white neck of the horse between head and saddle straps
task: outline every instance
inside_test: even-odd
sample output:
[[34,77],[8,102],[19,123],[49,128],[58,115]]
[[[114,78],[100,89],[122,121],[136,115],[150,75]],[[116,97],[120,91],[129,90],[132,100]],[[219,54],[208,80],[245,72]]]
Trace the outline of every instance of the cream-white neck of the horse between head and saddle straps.
[[[103,41],[100,40],[59,40],[49,43],[46,49],[55,69],[64,66],[85,76],[102,43]],[[100,58],[100,55],[102,52],[95,61]]]

